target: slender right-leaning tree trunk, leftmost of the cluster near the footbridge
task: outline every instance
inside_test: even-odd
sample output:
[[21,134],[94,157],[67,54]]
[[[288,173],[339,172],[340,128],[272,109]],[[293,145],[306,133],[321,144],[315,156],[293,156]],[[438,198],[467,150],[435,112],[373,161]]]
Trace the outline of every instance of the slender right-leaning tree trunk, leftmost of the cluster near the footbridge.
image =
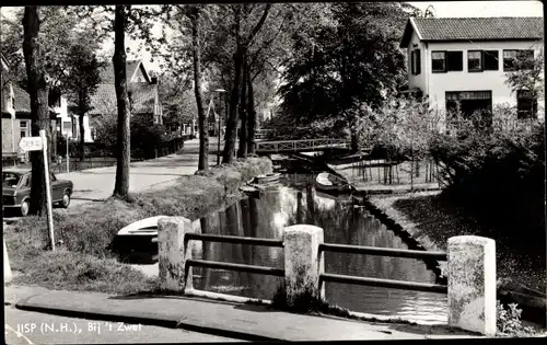
[[235,136],[237,126],[237,106],[240,104],[240,84],[242,79],[242,65],[245,49],[241,39],[241,4],[237,4],[235,11],[235,55],[234,55],[234,83],[232,85],[232,94],[230,100],[230,113],[226,120],[226,134],[224,142],[224,151],[222,152],[222,163],[230,164],[234,161]]

